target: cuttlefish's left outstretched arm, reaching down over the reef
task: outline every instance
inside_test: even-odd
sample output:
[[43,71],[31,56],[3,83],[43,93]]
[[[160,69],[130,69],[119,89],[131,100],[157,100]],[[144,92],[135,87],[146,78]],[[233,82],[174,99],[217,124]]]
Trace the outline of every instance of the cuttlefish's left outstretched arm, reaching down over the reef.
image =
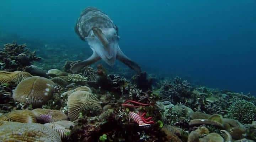
[[70,70],[74,73],[78,73],[85,66],[89,66],[100,59],[100,56],[98,56],[98,54],[93,50],[93,54],[88,59],[74,64],[73,66],[71,66]]

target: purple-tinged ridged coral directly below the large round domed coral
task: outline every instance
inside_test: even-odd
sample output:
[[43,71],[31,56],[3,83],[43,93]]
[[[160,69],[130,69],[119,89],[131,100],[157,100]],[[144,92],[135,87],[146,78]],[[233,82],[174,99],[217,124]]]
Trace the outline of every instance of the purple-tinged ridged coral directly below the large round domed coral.
[[43,123],[68,119],[68,116],[66,116],[62,111],[59,110],[34,109],[32,111],[36,115],[37,120]]

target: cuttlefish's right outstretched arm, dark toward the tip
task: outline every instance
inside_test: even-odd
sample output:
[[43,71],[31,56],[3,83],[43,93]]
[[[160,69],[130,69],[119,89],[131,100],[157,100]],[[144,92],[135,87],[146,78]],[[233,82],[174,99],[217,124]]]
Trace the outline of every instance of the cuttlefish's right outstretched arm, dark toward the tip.
[[129,59],[126,55],[124,55],[124,53],[121,51],[121,49],[119,47],[118,47],[118,50],[117,50],[117,56],[116,57],[119,61],[126,64],[127,66],[129,66],[131,69],[133,69],[137,73],[141,72],[140,66],[137,63],[135,63],[134,61],[132,61],[131,59]]

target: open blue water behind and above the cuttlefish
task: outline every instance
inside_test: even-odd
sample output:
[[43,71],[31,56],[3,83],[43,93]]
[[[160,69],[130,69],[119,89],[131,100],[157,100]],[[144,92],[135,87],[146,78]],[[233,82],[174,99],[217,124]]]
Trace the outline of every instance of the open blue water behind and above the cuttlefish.
[[82,50],[74,25],[87,6],[112,18],[143,70],[256,94],[255,0],[1,0],[0,30]]

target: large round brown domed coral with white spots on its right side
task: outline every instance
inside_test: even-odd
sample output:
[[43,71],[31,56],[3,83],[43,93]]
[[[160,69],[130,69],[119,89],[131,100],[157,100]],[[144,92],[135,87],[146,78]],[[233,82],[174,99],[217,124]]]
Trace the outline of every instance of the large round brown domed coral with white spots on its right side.
[[13,98],[21,103],[40,107],[52,98],[55,83],[47,78],[32,76],[21,81],[13,91]]

